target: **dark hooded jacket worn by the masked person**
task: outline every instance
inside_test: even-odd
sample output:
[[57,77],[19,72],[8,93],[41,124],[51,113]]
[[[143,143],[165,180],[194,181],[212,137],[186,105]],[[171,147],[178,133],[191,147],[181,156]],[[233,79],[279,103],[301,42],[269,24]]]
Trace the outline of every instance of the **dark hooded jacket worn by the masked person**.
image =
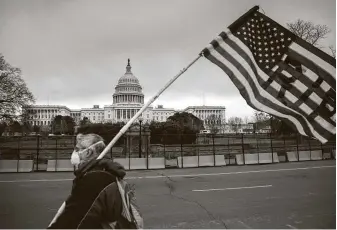
[[80,165],[64,211],[48,228],[136,229],[137,225],[123,215],[123,195],[117,178],[123,179],[125,174],[123,166],[109,159]]

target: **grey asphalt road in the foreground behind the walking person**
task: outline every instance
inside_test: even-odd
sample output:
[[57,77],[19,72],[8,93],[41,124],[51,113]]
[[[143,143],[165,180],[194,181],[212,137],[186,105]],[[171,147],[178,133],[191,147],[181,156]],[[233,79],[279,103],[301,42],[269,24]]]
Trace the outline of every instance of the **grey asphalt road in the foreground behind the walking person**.
[[[334,160],[131,171],[146,228],[336,228]],[[45,228],[71,173],[0,174],[0,228]]]

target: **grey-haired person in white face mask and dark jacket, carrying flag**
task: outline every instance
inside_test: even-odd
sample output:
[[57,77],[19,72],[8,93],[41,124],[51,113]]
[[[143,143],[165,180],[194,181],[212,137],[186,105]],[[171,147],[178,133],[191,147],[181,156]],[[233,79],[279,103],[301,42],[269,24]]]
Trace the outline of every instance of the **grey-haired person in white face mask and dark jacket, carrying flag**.
[[71,156],[76,168],[71,194],[49,229],[142,228],[134,189],[123,181],[125,169],[111,159],[96,159],[104,148],[99,135],[77,135]]

